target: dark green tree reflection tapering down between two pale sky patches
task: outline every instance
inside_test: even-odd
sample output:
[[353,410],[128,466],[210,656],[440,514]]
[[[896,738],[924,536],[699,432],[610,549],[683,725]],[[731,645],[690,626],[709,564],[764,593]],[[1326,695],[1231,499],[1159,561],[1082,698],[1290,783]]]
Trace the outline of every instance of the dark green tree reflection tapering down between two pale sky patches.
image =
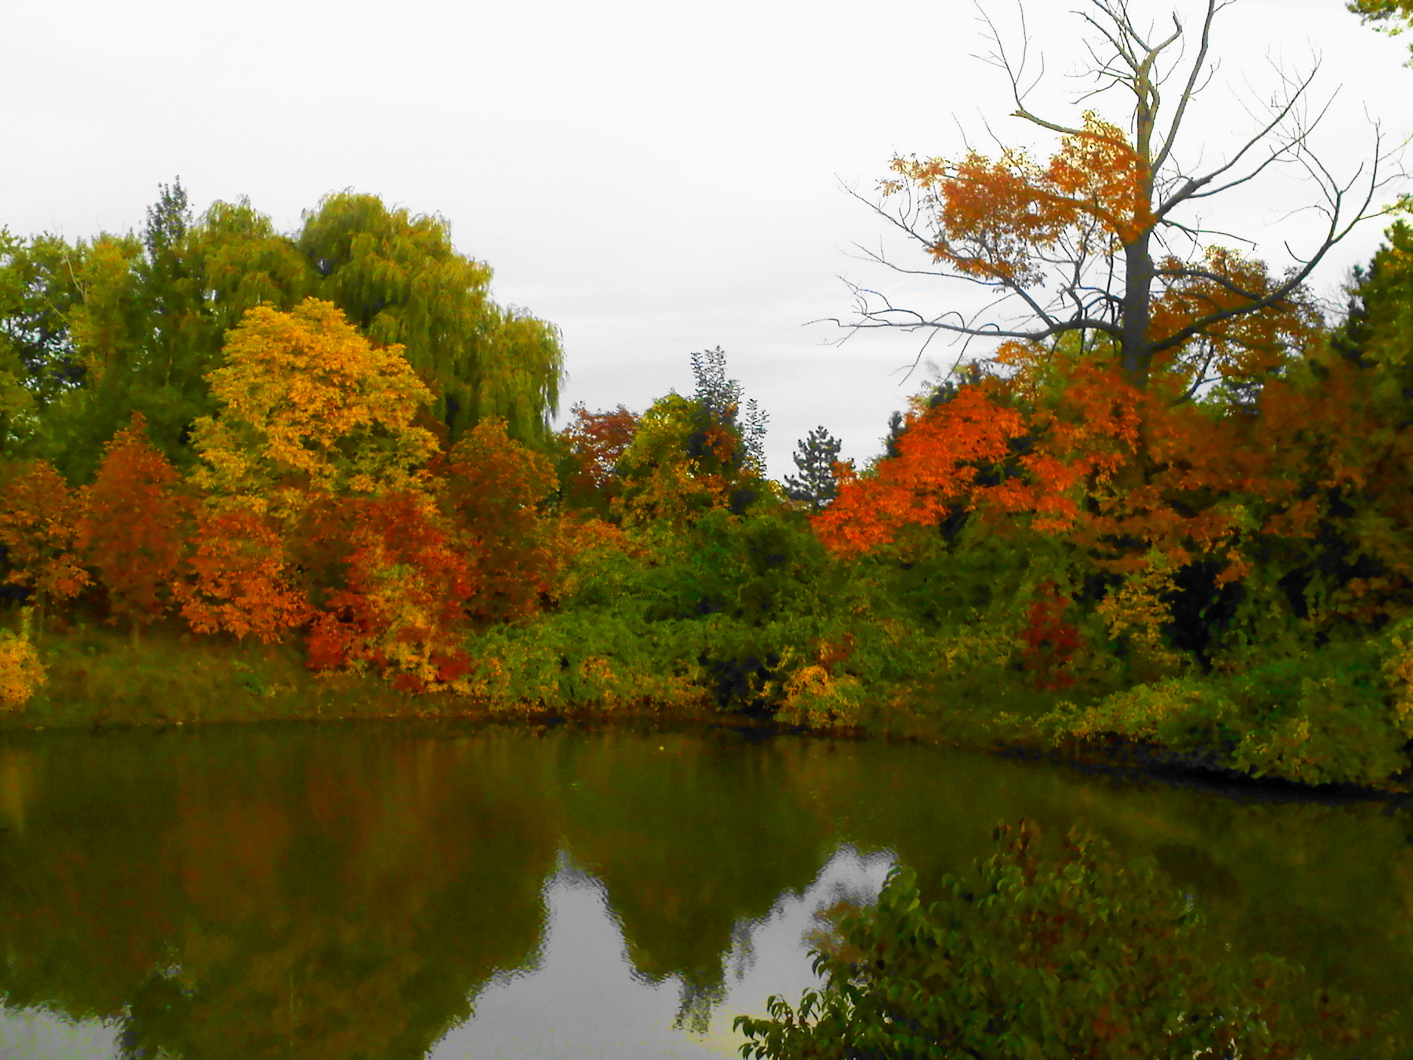
[[643,746],[630,762],[616,741],[572,746],[568,845],[608,888],[633,967],[681,979],[678,1022],[705,1030],[738,926],[808,886],[828,827],[773,750],[677,734]]

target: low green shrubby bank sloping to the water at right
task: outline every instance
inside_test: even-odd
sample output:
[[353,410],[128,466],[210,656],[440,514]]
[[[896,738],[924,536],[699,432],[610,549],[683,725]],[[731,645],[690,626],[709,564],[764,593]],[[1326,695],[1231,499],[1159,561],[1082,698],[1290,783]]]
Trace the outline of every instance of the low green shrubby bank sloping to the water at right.
[[1041,691],[993,669],[948,678],[880,729],[1123,770],[1413,793],[1407,632],[1186,673]]

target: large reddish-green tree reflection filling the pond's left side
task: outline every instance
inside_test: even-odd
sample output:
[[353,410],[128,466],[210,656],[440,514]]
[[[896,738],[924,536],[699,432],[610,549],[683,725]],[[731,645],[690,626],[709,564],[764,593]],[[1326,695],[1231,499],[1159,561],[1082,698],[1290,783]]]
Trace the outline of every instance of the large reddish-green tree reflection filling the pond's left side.
[[555,821],[503,743],[219,736],[35,756],[7,1005],[133,1056],[420,1057],[534,951]]

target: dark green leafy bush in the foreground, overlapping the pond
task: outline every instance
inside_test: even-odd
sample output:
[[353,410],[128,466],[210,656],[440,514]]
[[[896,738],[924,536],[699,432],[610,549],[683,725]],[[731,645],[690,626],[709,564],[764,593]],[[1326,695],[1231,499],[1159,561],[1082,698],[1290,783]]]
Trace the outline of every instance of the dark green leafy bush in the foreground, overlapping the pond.
[[1040,830],[995,831],[971,881],[948,875],[923,906],[896,868],[877,905],[841,917],[815,948],[822,991],[769,1019],[738,1016],[756,1060],[938,1057],[1393,1056],[1358,1003],[1316,989],[1300,965],[1232,958],[1204,936],[1191,899],[1150,862],[1121,864],[1071,828],[1058,861]]

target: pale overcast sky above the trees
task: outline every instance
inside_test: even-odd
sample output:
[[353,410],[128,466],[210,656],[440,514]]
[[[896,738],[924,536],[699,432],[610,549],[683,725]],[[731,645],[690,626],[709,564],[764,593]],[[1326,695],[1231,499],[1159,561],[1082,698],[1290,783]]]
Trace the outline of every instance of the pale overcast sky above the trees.
[[[1031,98],[1078,123],[1067,78],[1084,59],[1088,0],[1024,0],[1047,82]],[[1015,0],[982,0],[1019,41]],[[1133,0],[1140,18],[1195,0]],[[920,335],[868,332],[838,278],[935,315],[964,293],[858,260],[853,243],[926,264],[841,181],[873,196],[894,153],[955,155],[968,140],[1053,141],[1007,117],[1005,79],[971,0],[657,0],[654,3],[140,3],[0,0],[0,225],[69,239],[141,226],[179,175],[194,206],[247,195],[284,230],[353,188],[452,225],[495,269],[492,293],[564,334],[564,411],[643,410],[691,390],[688,353],[721,345],[770,414],[770,471],[793,471],[817,424],[868,459]],[[1344,0],[1236,0],[1218,17],[1221,69],[1191,114],[1188,163],[1249,133],[1279,88],[1272,61],[1318,57],[1317,99],[1338,89],[1317,146],[1337,174],[1371,153],[1368,116],[1413,133],[1407,38],[1362,27]],[[1123,124],[1118,93],[1089,103]],[[1313,189],[1275,171],[1205,219],[1277,266],[1313,229],[1290,209]],[[1362,228],[1317,274],[1334,295],[1376,249]],[[944,367],[950,353],[928,356]],[[561,421],[564,413],[561,413]]]

